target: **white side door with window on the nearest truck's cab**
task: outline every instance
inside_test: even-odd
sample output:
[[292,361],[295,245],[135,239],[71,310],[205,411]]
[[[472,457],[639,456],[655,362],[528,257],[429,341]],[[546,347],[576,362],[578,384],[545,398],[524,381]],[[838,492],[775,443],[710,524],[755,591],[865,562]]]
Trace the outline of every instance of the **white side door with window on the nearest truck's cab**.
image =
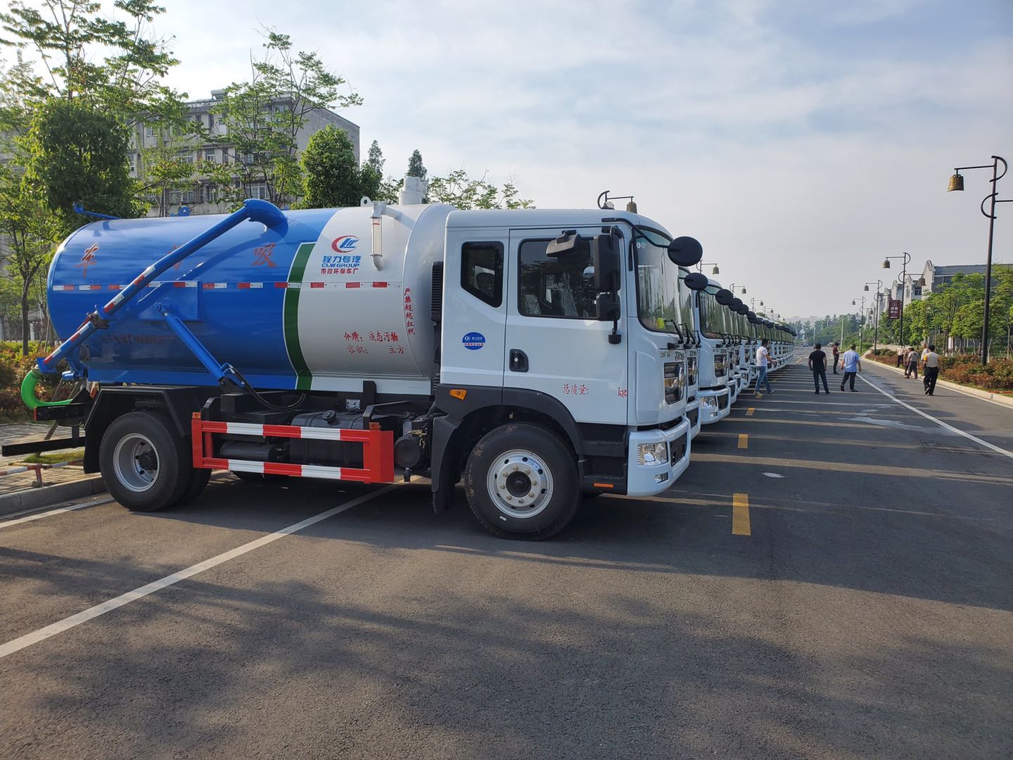
[[[576,422],[626,425],[628,341],[623,335],[610,344],[612,322],[597,319],[592,262],[546,255],[549,241],[562,232],[510,232],[504,395],[511,388],[540,391],[561,401]],[[601,227],[577,232],[593,237]],[[619,245],[624,250],[629,241]],[[619,332],[625,331],[620,319]]]

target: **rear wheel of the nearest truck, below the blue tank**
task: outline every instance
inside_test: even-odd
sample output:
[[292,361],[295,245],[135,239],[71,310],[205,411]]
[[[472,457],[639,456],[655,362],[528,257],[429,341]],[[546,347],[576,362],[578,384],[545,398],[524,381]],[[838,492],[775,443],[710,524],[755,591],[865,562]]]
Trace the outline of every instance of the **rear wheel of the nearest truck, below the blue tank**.
[[135,512],[176,504],[193,471],[185,441],[172,423],[150,411],[132,411],[112,422],[102,436],[98,464],[109,493]]

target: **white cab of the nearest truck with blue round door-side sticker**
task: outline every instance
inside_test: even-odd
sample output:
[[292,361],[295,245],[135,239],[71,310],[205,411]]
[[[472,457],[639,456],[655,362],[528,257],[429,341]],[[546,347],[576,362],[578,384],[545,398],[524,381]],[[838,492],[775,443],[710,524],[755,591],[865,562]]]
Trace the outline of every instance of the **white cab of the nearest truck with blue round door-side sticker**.
[[[509,484],[500,469],[528,466],[514,461],[515,449],[537,454],[511,443],[509,430],[497,433],[514,421],[548,426],[566,441],[577,465],[570,485],[585,492],[652,496],[686,470],[694,340],[692,298],[679,275],[701,254],[696,240],[674,239],[629,212],[448,216],[436,386],[447,413],[434,421],[433,448],[456,437],[468,470],[476,454],[495,452],[464,473],[466,491],[483,491],[482,509],[472,506],[486,527],[526,532],[532,505],[545,501],[518,505],[497,487]],[[462,428],[491,430],[476,440]],[[441,459],[435,491],[460,474],[457,457]]]

